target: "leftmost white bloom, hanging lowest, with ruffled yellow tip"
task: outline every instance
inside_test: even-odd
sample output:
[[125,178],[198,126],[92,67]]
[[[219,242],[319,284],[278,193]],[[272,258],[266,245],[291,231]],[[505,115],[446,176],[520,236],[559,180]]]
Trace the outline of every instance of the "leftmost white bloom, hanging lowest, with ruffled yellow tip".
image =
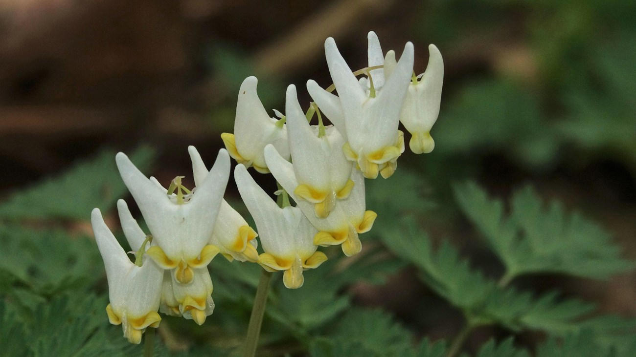
[[[122,215],[121,210],[120,215]],[[99,209],[93,210],[91,222],[97,248],[104,259],[104,267],[106,267],[110,300],[110,304],[106,306],[108,320],[113,325],[121,324],[123,335],[128,341],[138,344],[141,342],[141,335],[146,331],[146,328],[158,327],[161,321],[157,310],[161,298],[163,269],[151,259],[143,259],[141,267],[131,262],[113,233],[106,226]],[[121,222],[122,226],[125,227],[125,234],[130,246],[138,248],[145,239],[145,234],[138,226],[130,229],[130,223],[130,221],[125,222],[125,220]],[[141,232],[142,236],[129,236],[131,231]],[[140,238],[141,242],[139,242]]]

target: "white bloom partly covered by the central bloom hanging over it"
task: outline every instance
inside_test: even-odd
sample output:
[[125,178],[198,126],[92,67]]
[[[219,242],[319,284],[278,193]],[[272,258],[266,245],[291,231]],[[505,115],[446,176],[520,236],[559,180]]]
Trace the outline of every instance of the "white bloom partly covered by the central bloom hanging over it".
[[276,178],[289,195],[296,201],[311,224],[319,231],[314,236],[314,244],[342,245],[342,251],[347,256],[357,254],[362,249],[358,234],[368,232],[373,226],[377,214],[366,211],[364,198],[364,177],[361,172],[352,169],[350,179],[354,183],[347,199],[338,201],[328,217],[316,217],[314,205],[298,198],[294,187],[298,187],[298,180],[294,175],[293,165],[282,158],[276,149],[270,145],[265,147],[265,159]]

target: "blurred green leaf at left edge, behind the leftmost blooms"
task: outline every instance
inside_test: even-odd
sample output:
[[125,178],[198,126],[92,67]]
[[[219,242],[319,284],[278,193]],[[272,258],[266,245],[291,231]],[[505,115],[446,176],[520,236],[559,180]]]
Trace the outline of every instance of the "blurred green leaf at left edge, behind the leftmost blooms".
[[[153,151],[137,149],[130,159],[140,170],[148,168]],[[45,180],[0,203],[0,219],[87,220],[95,208],[106,210],[126,194],[114,161],[114,152],[101,152],[78,163],[59,177]]]

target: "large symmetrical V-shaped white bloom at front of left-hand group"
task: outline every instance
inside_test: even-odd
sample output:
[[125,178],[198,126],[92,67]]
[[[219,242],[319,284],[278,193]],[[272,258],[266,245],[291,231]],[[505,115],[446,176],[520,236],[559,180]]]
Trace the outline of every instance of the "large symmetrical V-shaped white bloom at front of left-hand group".
[[193,269],[207,266],[219,252],[209,240],[230,175],[228,153],[219,151],[205,180],[185,197],[166,194],[165,189],[146,178],[122,152],[117,154],[116,161],[121,178],[156,242],[146,253],[163,269],[174,269],[177,281],[190,283],[194,278]]

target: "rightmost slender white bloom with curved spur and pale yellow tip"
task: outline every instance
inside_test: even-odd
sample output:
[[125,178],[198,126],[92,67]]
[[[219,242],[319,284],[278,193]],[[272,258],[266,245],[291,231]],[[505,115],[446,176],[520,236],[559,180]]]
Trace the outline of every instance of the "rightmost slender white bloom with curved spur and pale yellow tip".
[[[389,51],[385,61],[385,75],[390,77],[396,67],[395,53]],[[418,80],[418,78],[421,78]],[[435,142],[431,128],[439,115],[441,88],[444,81],[444,61],[438,48],[429,45],[429,64],[426,71],[414,77],[408,86],[400,121],[411,133],[409,146],[415,154],[433,151]]]

